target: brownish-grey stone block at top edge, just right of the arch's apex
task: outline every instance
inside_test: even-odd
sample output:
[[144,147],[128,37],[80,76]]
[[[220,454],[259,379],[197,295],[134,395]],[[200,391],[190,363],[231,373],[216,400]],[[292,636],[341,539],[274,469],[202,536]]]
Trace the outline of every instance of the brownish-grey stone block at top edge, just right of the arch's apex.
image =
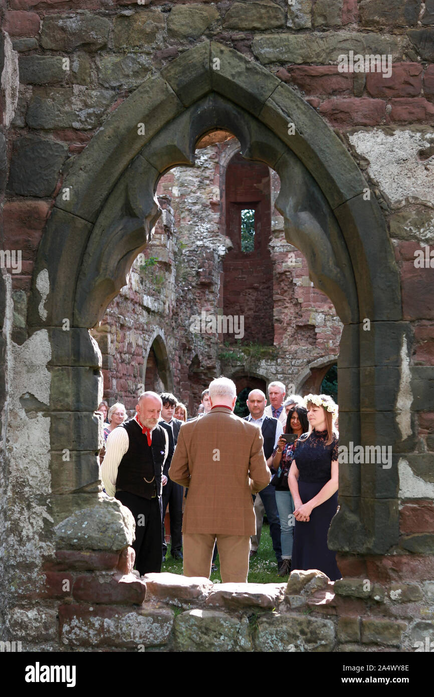
[[223,26],[228,29],[278,29],[285,26],[285,20],[284,10],[270,0],[235,2],[224,15]]

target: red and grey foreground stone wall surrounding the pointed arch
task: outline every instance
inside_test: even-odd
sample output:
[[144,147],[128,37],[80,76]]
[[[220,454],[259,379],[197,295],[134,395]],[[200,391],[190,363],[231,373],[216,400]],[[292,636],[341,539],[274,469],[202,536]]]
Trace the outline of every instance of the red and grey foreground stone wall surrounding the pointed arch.
[[[294,6],[288,6],[279,0],[159,5],[151,0],[137,6],[130,0],[1,0],[0,14],[1,241],[3,249],[20,249],[23,254],[22,273],[2,279],[0,293],[2,638],[22,637],[25,650],[92,649],[98,648],[96,641],[131,650],[134,647],[125,636],[135,637],[134,646],[143,638],[151,650],[188,650],[194,648],[193,640],[187,645],[176,642],[192,636],[194,623],[203,620],[207,629],[207,622],[217,622],[219,631],[223,624],[229,635],[232,631],[231,636],[245,638],[219,650],[235,645],[251,648],[249,636],[254,636],[255,650],[273,650],[276,641],[281,650],[282,642],[290,646],[293,638],[298,640],[302,627],[311,638],[310,646],[334,650],[414,650],[414,641],[426,636],[432,640],[433,277],[430,268],[414,267],[414,251],[434,244],[431,3],[295,0]],[[249,598],[242,600],[246,603],[242,610],[221,606],[219,612],[231,616],[225,624],[224,618],[216,620],[203,611],[201,603],[209,595],[202,589],[199,599],[190,599],[196,590],[187,592],[187,602],[197,603],[197,608],[187,615],[177,614],[183,602],[181,590],[176,588],[175,602],[169,600],[163,607],[158,600],[154,606],[153,597],[164,596],[166,590],[152,583],[148,583],[148,605],[141,606],[143,583],[132,576],[121,583],[116,575],[126,574],[131,566],[127,548],[132,537],[125,512],[113,512],[113,530],[109,535],[105,530],[103,544],[95,542],[96,537],[85,540],[88,515],[80,518],[79,511],[93,505],[98,512],[104,506],[90,501],[95,500],[98,482],[90,466],[86,469],[81,464],[78,470],[74,462],[61,461],[61,450],[49,460],[54,444],[50,444],[49,418],[43,410],[56,368],[46,367],[51,351],[47,332],[30,337],[26,314],[33,262],[54,196],[64,172],[105,118],[153,71],[203,38],[235,49],[293,86],[352,153],[387,220],[401,273],[403,320],[410,322],[412,331],[408,372],[413,385],[417,384],[412,403],[413,445],[412,452],[400,459],[400,549],[405,553],[386,560],[381,556],[341,558],[344,576],[359,579],[346,579],[347,585],[341,586],[336,582],[334,590],[324,585],[332,604],[317,602],[309,616],[300,613],[297,599],[292,606],[289,600],[288,608],[286,598],[277,604],[284,619],[270,620],[271,613],[261,618],[256,610],[251,613],[250,608],[257,605]],[[339,73],[337,55],[350,49],[392,54],[394,70],[387,84],[375,73]],[[64,69],[65,58],[69,70]],[[307,286],[301,282],[297,288]],[[93,365],[98,365],[98,359]],[[176,363],[173,366],[175,378],[178,368]],[[183,387],[182,369],[181,390],[187,387],[185,376]],[[95,378],[95,394],[96,383]],[[408,390],[409,385],[410,378]],[[406,399],[411,401],[408,390]],[[82,447],[86,444],[80,443]],[[62,496],[56,499],[59,492]],[[77,514],[70,514],[71,507]],[[124,516],[123,528],[118,526],[118,516]],[[55,524],[65,518],[72,528],[63,524],[54,532]],[[65,579],[70,581],[69,590],[64,590]],[[378,586],[364,590],[364,579],[369,579],[371,589],[379,584],[384,597]],[[100,581],[107,581],[105,592]],[[111,595],[109,587],[114,582],[116,591]],[[131,589],[126,592],[125,586]],[[366,597],[366,592],[371,595]],[[276,593],[282,597],[282,590],[272,593],[274,603]],[[230,595],[238,602],[236,594]],[[303,586],[290,595],[303,597]],[[176,605],[177,612],[171,605]],[[330,617],[325,619],[325,614]],[[248,615],[254,618],[250,623]],[[159,633],[156,627],[164,622],[166,629]],[[268,623],[274,638],[267,634]],[[277,624],[286,627],[283,634],[277,634]],[[295,643],[295,650],[299,648]]]

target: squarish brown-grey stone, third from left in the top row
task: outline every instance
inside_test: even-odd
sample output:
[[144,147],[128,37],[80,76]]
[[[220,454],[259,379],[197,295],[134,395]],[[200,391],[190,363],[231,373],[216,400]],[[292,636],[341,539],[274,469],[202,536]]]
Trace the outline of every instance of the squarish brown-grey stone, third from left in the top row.
[[118,15],[114,18],[113,26],[115,48],[146,48],[155,41],[157,33],[164,29],[164,15],[160,10]]

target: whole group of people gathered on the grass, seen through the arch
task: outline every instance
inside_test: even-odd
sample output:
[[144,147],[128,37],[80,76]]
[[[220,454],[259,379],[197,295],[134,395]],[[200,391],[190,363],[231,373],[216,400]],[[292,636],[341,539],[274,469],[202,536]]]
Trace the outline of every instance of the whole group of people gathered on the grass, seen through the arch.
[[270,382],[269,406],[251,390],[242,419],[235,383],[222,376],[201,392],[194,418],[171,392],[143,392],[131,418],[121,402],[100,403],[104,491],[134,516],[139,574],[161,571],[170,531],[171,556],[186,576],[209,578],[218,547],[222,581],[246,582],[265,513],[279,576],[319,569],[341,578],[327,546],[337,510],[337,405],[328,395],[285,396],[280,381]]

